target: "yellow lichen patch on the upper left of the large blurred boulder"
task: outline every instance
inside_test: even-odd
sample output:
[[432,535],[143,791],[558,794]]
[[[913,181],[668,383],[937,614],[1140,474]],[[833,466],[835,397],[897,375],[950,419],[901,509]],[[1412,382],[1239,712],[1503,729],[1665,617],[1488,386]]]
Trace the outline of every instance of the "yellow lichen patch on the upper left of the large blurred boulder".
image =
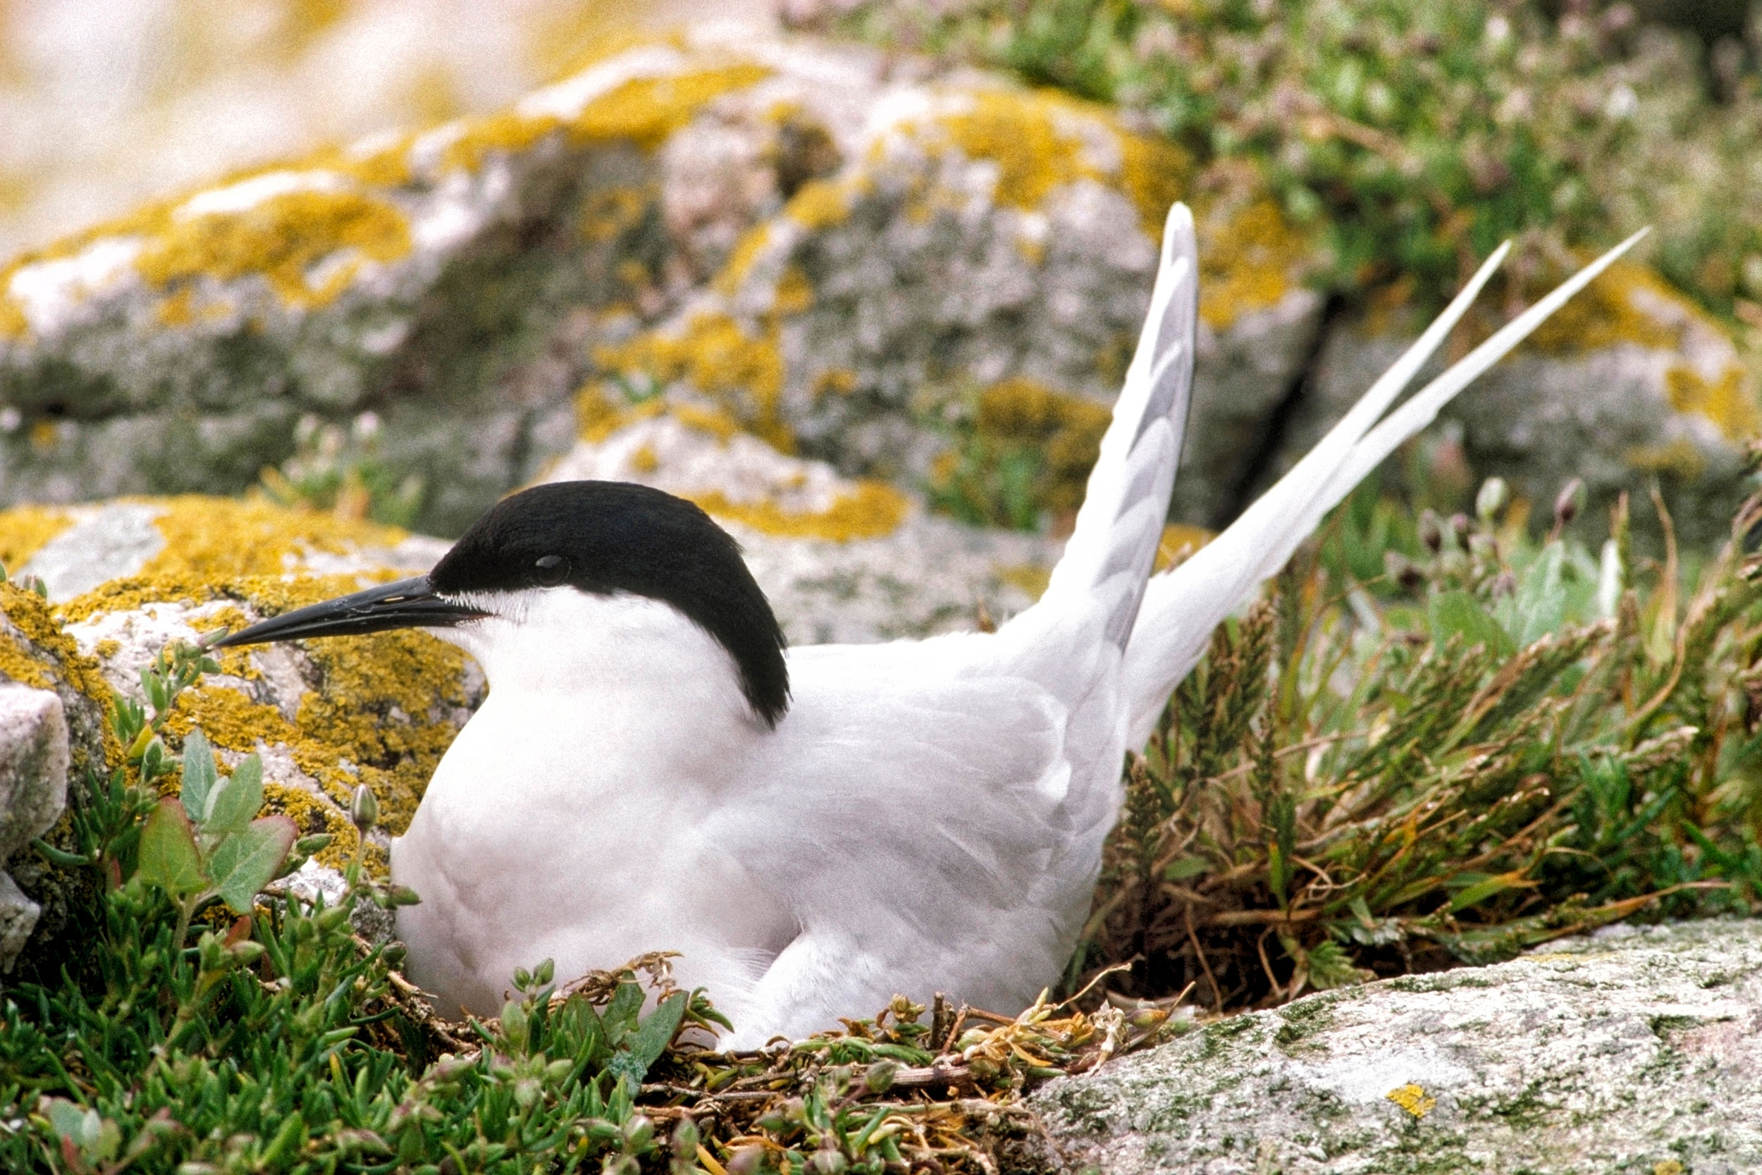
[[344,291],[359,261],[312,287],[319,261],[354,250],[395,261],[411,250],[403,213],[359,192],[284,192],[241,211],[215,211],[173,222],[136,259],[141,277],[171,285],[196,277],[220,280],[261,273],[287,305],[322,305]]

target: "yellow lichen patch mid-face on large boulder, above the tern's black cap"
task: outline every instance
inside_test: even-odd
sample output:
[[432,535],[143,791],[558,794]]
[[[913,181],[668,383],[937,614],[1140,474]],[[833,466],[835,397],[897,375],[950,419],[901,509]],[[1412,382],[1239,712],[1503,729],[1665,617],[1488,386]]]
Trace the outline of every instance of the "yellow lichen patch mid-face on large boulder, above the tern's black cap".
[[601,347],[594,359],[663,386],[684,381],[779,451],[795,449],[779,414],[784,366],[775,324],[754,338],[726,314],[694,314],[678,333],[650,331]]

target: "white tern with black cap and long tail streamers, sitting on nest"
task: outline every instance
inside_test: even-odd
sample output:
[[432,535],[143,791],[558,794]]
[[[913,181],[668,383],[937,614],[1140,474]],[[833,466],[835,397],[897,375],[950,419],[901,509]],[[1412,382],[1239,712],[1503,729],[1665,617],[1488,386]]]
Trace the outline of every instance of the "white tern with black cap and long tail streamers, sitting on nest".
[[1193,386],[1198,255],[1170,211],[1151,310],[1045,595],[996,632],[786,650],[740,548],[645,486],[543,484],[426,576],[217,645],[426,627],[488,699],[391,876],[409,974],[493,1015],[516,967],[677,950],[728,1046],[932,992],[1027,1006],[1071,955],[1121,763],[1235,610],[1383,456],[1635,238],[1378,423],[1492,275],[1235,523],[1151,576]]

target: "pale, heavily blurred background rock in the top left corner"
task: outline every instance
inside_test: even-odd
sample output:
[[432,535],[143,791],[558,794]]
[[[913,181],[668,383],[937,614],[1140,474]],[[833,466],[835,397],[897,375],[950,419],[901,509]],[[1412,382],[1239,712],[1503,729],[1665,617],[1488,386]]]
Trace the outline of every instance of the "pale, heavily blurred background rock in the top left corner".
[[7,0],[0,255],[236,167],[507,104],[606,39],[768,0]]

